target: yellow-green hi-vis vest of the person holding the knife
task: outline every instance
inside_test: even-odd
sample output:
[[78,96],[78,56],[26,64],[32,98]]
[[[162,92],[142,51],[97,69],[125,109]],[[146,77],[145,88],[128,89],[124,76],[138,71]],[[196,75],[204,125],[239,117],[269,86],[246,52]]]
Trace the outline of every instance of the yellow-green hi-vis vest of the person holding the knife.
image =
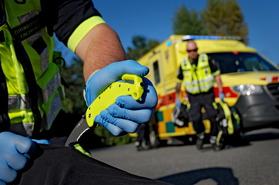
[[62,107],[64,61],[53,50],[42,1],[0,2],[0,132],[34,137],[50,128]]

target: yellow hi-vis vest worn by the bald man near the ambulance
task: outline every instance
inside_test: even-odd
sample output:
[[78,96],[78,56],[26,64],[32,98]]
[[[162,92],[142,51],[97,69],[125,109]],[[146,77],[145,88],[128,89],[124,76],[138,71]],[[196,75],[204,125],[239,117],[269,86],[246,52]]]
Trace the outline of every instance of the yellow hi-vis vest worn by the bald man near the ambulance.
[[205,53],[199,55],[197,66],[191,64],[188,57],[184,57],[181,62],[181,68],[186,92],[191,94],[208,92],[213,88],[215,83],[214,77],[219,73],[219,71],[214,74],[212,73],[208,56]]

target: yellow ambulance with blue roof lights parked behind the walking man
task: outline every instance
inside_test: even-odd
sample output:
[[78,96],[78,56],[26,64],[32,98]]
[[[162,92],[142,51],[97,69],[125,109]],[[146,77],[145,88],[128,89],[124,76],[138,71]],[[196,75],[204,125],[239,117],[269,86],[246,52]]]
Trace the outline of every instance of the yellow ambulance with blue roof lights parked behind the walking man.
[[[186,44],[194,40],[198,53],[215,59],[221,71],[225,94],[224,102],[233,107],[240,117],[242,132],[279,125],[279,68],[272,61],[246,46],[240,37],[171,35],[137,61],[149,67],[150,79],[158,94],[155,118],[161,140],[194,135],[192,123],[177,127],[171,113],[175,107],[176,78],[180,62],[187,55]],[[182,83],[183,84],[183,83]],[[214,87],[219,102],[217,84]],[[181,88],[181,101],[186,94]],[[186,104],[186,102],[185,102]],[[206,132],[210,122],[204,120]]]

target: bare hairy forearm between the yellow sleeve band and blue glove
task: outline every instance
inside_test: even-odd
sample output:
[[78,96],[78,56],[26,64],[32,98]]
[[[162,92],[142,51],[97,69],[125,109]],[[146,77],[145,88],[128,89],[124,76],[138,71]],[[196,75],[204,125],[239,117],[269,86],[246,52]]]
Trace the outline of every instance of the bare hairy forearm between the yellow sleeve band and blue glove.
[[117,33],[106,24],[94,26],[81,40],[75,53],[84,62],[84,78],[110,63],[126,59],[124,48]]

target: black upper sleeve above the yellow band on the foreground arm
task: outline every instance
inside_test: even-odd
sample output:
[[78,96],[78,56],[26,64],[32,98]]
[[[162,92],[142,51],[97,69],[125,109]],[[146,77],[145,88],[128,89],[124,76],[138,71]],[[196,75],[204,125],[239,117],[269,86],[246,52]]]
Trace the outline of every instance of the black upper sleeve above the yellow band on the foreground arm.
[[67,46],[67,41],[84,20],[101,16],[91,0],[41,0],[42,11],[48,15],[48,33],[55,32],[57,38]]

